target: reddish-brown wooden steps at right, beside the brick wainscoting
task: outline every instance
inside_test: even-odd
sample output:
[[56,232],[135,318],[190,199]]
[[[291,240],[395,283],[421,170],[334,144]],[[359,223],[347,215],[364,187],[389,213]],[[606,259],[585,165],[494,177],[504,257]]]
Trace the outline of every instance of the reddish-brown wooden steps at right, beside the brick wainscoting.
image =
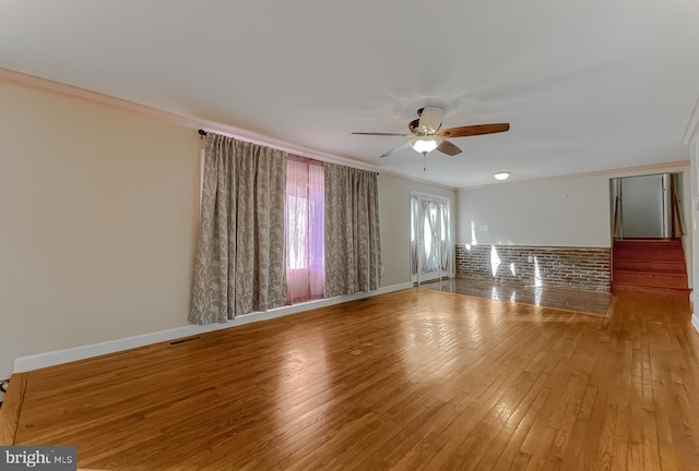
[[682,239],[625,239],[614,242],[612,292],[689,300]]

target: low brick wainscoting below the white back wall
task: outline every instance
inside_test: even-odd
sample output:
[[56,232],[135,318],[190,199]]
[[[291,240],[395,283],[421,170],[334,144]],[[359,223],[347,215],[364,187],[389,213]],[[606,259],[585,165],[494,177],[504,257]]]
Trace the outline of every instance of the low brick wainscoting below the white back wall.
[[[491,259],[499,259],[495,276]],[[531,259],[531,262],[530,262]],[[502,282],[609,291],[608,247],[457,244],[457,276]]]

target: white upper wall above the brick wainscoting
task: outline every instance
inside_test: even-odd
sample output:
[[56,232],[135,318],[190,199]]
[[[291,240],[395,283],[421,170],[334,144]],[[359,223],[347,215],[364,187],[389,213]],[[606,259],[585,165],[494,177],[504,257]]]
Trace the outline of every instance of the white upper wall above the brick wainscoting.
[[608,177],[502,182],[458,192],[458,243],[609,246]]

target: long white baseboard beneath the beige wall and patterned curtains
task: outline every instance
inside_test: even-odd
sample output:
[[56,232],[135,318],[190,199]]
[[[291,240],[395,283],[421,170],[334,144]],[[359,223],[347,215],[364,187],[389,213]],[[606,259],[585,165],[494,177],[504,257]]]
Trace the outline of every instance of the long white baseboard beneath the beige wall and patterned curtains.
[[99,343],[92,343],[82,347],[74,347],[64,350],[56,350],[45,353],[37,353],[28,357],[20,357],[14,360],[13,372],[21,373],[37,370],[47,366],[55,366],[62,363],[69,363],[76,360],[84,360],[93,357],[99,357],[107,353],[115,353],[122,350],[129,350],[137,347],[143,347],[152,343],[159,343],[177,338],[190,337],[198,334],[204,334],[213,330],[236,327],[244,324],[250,324],[260,321],[266,321],[275,317],[282,317],[289,314],[296,314],[304,311],[310,311],[319,307],[325,307],[340,304],[347,301],[354,301],[363,298],[370,298],[378,294],[384,294],[393,291],[400,291],[412,288],[412,282],[382,287],[376,291],[360,292],[352,295],[323,299],[318,301],[309,301],[306,303],[294,304],[289,306],[277,307],[266,312],[257,312],[236,317],[225,324],[209,325],[187,325],[167,330],[158,330],[149,334],[142,334],[122,339],[108,340]]

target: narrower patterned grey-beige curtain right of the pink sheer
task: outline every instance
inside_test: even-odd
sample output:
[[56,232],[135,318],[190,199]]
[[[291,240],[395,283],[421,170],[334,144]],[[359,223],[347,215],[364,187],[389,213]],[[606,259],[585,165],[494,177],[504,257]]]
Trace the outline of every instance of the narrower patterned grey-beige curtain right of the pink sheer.
[[375,172],[325,164],[325,298],[381,283],[378,182]]

